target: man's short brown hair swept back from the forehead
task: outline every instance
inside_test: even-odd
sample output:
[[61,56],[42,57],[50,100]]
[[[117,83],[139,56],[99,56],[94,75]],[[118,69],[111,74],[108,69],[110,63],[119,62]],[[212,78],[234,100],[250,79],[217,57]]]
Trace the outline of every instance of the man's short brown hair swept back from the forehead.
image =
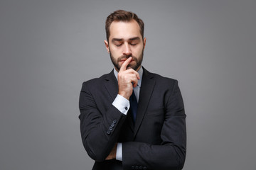
[[105,23],[105,30],[106,30],[106,35],[107,35],[107,41],[110,38],[110,24],[113,21],[132,21],[132,20],[137,21],[137,23],[139,24],[139,28],[140,28],[140,33],[142,35],[142,38],[144,38],[144,23],[142,21],[142,19],[138,18],[138,16],[133,13],[133,12],[129,12],[129,11],[124,11],[124,10],[117,10],[114,11],[113,13],[110,14],[110,16],[107,16],[106,19],[106,23]]

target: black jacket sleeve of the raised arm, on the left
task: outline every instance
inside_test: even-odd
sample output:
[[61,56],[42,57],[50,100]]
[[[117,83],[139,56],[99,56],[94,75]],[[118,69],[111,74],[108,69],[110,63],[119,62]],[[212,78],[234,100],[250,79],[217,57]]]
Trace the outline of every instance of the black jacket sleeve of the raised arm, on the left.
[[117,142],[126,115],[112,103],[96,103],[90,91],[92,84],[89,84],[84,82],[80,92],[80,132],[87,154],[95,161],[102,162]]

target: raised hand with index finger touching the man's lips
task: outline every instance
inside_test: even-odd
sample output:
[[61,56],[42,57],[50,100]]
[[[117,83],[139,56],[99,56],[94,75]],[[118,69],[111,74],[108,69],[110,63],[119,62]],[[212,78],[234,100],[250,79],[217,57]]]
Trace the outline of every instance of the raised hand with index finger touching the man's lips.
[[129,57],[122,64],[119,73],[117,74],[118,79],[118,94],[127,98],[132,95],[133,87],[138,84],[139,73],[134,69],[127,69],[128,64],[132,61],[132,57]]

